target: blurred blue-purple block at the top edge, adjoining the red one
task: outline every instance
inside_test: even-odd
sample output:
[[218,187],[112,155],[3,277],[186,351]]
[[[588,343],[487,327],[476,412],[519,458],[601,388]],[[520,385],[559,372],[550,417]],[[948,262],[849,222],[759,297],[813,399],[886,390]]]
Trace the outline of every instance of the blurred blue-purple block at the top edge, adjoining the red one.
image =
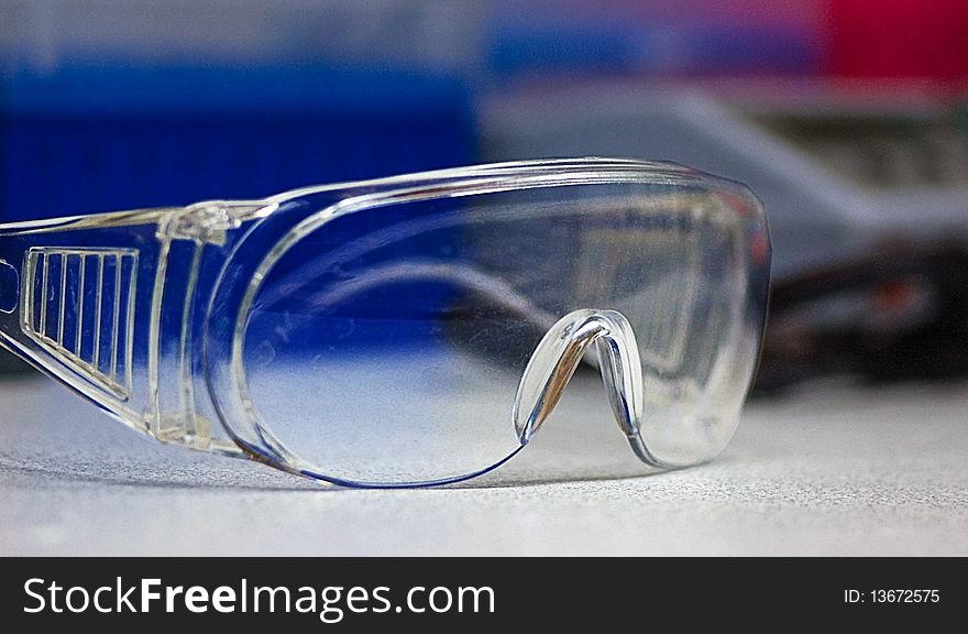
[[488,36],[498,77],[814,74],[815,0],[494,0]]

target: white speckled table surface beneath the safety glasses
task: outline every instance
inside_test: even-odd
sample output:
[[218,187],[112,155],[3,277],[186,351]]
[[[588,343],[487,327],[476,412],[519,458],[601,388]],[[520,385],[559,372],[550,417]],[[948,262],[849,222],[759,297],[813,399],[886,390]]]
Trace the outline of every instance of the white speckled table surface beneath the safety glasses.
[[[540,469],[538,469],[540,472]],[[968,555],[968,384],[813,386],[645,478],[324,489],[0,378],[2,555]]]

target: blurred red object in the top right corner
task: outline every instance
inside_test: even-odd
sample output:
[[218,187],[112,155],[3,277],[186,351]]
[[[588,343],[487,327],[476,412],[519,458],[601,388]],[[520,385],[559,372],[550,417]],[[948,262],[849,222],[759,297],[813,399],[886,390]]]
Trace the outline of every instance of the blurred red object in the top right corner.
[[834,75],[968,78],[966,0],[828,0],[827,9]]

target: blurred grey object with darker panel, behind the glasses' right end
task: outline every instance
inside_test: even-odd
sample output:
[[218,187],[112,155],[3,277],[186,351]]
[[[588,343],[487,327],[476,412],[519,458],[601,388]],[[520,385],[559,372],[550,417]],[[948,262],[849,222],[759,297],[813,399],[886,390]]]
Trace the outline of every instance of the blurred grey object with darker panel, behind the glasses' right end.
[[886,237],[968,233],[968,131],[923,85],[532,86],[493,96],[483,120],[488,161],[634,156],[748,184],[780,278]]

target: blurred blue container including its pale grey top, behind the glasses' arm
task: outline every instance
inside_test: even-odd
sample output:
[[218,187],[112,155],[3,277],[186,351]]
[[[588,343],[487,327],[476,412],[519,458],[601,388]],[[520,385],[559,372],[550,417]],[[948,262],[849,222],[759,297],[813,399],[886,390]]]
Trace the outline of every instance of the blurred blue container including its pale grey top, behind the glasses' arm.
[[474,163],[477,6],[0,0],[0,222]]

